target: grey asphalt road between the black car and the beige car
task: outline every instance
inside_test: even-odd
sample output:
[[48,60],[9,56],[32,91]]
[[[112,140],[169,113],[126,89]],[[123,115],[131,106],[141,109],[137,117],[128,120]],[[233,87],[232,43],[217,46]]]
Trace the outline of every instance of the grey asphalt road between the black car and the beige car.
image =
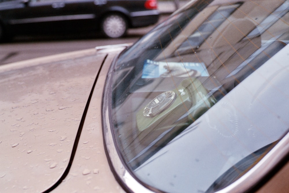
[[[159,22],[166,17],[167,15],[161,16]],[[126,37],[118,39],[103,39],[95,35],[16,37],[9,43],[0,43],[0,65],[96,46],[134,43],[151,28],[153,26],[129,29]]]

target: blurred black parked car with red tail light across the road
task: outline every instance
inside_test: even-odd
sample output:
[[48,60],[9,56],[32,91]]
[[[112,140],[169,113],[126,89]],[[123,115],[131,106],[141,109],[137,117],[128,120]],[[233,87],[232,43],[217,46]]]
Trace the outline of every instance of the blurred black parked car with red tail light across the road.
[[97,30],[116,38],[158,18],[156,0],[0,0],[0,38]]

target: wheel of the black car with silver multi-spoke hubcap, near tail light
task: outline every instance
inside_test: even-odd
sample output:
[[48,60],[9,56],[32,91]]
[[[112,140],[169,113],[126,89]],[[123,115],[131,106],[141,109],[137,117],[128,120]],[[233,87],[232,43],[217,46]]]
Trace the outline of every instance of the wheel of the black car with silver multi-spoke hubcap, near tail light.
[[103,18],[101,23],[104,35],[111,38],[122,37],[125,35],[127,28],[127,20],[120,14],[109,14]]

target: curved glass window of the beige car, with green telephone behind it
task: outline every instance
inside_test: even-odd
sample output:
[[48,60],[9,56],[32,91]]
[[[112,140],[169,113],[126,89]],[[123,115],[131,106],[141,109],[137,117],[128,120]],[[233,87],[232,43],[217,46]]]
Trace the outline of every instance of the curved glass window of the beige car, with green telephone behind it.
[[[113,66],[125,166],[165,192],[215,192],[289,128],[289,1],[192,1]],[[287,58],[287,59],[286,59]]]

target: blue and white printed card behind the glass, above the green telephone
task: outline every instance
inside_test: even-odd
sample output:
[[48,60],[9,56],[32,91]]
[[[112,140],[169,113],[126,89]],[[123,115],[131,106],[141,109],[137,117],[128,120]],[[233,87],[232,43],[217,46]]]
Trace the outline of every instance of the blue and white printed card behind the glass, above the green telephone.
[[158,77],[197,77],[209,76],[204,63],[196,62],[156,62],[146,60],[142,69],[142,78]]

